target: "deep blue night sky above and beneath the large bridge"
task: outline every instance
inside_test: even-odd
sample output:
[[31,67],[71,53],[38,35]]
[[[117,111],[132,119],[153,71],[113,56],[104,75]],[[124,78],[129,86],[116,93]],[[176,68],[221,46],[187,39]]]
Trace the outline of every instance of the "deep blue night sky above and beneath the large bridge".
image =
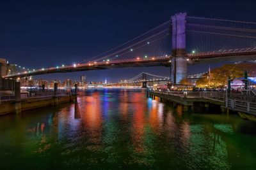
[[[255,6],[253,1],[0,0],[0,58],[29,68],[82,62],[163,24],[175,13],[255,22]],[[189,66],[189,74],[207,68],[204,64]],[[117,81],[141,71],[170,76],[168,67],[137,67],[35,78],[79,80],[86,74],[88,81]]]

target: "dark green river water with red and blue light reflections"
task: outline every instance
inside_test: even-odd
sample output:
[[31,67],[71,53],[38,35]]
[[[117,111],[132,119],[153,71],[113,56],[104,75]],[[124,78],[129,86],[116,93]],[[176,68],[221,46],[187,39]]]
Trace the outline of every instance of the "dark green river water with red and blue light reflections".
[[1,169],[255,169],[256,124],[184,113],[143,90],[0,117]]

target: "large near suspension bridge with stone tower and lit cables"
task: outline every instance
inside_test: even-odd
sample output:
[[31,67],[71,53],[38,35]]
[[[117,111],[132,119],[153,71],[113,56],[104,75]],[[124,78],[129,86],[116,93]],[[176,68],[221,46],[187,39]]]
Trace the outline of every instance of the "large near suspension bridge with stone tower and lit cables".
[[3,78],[22,78],[120,67],[170,67],[170,80],[187,77],[189,64],[256,60],[256,22],[190,17],[177,13],[171,20],[140,36],[69,66],[17,68]]

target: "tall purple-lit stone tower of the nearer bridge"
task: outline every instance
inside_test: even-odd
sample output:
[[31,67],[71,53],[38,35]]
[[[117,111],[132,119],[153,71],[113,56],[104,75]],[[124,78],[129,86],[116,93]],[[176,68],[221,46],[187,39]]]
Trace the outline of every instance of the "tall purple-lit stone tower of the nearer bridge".
[[186,16],[187,13],[177,13],[172,16],[172,83],[179,83],[180,80],[186,78],[188,72],[188,57],[186,55]]

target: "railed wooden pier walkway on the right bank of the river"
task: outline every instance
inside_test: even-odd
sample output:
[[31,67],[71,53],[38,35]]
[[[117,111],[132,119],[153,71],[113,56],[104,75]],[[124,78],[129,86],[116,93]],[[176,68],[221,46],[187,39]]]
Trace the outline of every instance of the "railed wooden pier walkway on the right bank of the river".
[[195,102],[218,104],[227,110],[248,113],[256,116],[256,96],[252,93],[230,93],[227,92],[181,92],[172,90],[152,90],[149,95],[160,97],[182,104],[193,106]]

